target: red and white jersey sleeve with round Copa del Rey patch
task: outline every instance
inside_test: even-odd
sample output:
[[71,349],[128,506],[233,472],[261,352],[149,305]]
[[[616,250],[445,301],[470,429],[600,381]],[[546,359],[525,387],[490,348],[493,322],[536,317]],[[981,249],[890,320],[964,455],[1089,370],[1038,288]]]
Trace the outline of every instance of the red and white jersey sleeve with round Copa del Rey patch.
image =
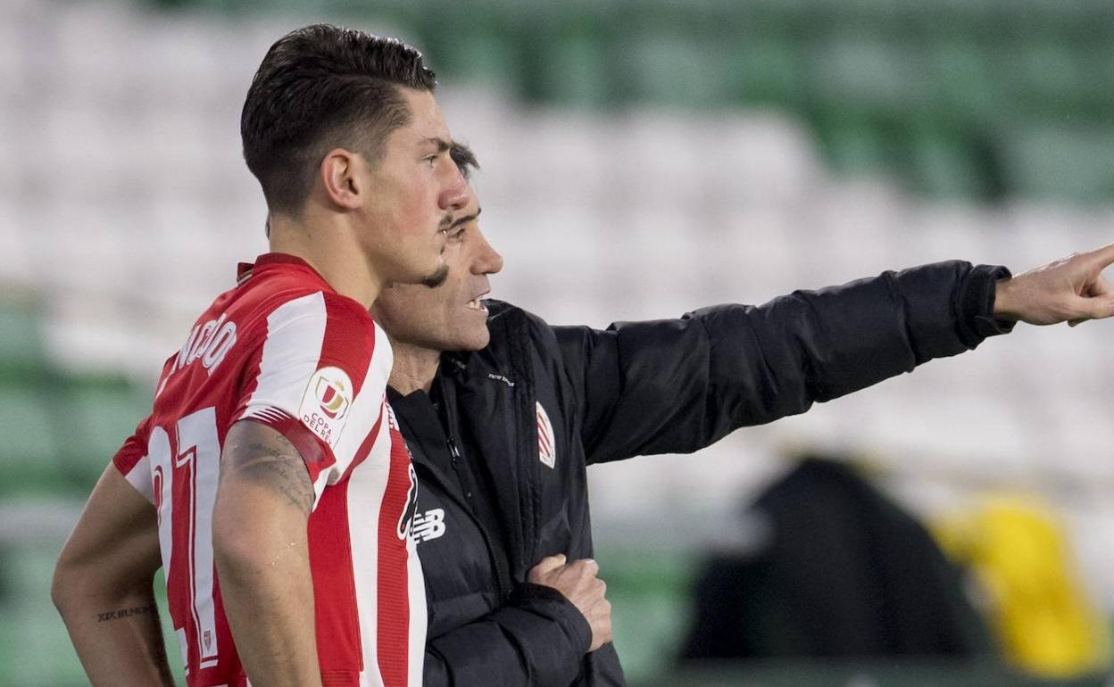
[[[354,458],[353,442],[342,438],[368,434],[372,426],[363,419],[379,416],[391,362],[390,346],[377,331],[354,301],[311,293],[271,312],[263,343],[248,363],[232,421],[261,422],[290,440],[317,499]],[[377,354],[377,346],[385,351]],[[385,371],[379,370],[384,360]]]

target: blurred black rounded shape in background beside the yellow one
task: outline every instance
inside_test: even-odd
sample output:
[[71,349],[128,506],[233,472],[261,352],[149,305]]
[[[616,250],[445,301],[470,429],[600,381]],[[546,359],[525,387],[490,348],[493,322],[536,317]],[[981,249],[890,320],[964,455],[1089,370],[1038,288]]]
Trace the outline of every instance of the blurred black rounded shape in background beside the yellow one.
[[808,460],[749,516],[756,553],[721,553],[696,585],[685,659],[989,652],[962,577],[915,518],[849,467]]

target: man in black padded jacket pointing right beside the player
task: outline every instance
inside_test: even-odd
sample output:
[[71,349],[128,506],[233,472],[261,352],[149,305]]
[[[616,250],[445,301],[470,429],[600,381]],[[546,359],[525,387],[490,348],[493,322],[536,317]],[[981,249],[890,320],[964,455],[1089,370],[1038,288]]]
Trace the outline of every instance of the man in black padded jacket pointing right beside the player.
[[1112,244],[1014,278],[947,262],[759,307],[549,326],[481,300],[502,258],[471,207],[450,230],[446,284],[388,288],[373,308],[394,347],[388,393],[421,484],[427,685],[624,684],[585,560],[586,465],[696,451],[971,350],[1015,321],[1114,314],[1101,276]]

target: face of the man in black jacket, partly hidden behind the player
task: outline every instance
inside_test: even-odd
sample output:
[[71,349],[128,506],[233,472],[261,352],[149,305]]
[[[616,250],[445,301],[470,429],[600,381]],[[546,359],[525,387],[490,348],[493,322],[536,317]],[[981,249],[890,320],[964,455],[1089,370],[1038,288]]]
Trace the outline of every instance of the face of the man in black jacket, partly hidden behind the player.
[[379,294],[371,312],[391,338],[433,351],[479,351],[488,344],[488,275],[502,269],[502,256],[480,232],[479,200],[469,200],[449,229],[443,284],[393,284]]

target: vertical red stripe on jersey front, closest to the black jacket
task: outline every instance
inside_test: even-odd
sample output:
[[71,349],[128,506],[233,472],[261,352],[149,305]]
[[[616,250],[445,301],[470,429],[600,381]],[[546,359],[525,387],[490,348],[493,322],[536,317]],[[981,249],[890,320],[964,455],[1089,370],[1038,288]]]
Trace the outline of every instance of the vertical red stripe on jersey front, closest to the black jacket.
[[389,429],[391,438],[391,470],[387,478],[387,493],[379,511],[379,580],[378,647],[379,673],[384,687],[407,687],[410,644],[410,595],[407,539],[401,532],[400,519],[409,518],[403,512],[410,503],[411,482],[410,453],[402,435],[394,428]]

